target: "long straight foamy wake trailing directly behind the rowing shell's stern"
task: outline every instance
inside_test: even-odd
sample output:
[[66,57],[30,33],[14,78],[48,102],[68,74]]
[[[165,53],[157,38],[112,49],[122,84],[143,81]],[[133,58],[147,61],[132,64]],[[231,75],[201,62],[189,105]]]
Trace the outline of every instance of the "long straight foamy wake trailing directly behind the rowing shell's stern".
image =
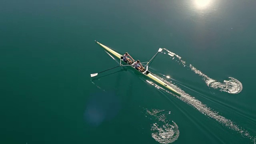
[[238,126],[237,124],[235,124],[234,122],[232,122],[232,120],[229,120],[227,118],[225,118],[224,116],[220,116],[218,114],[218,112],[212,110],[211,108],[209,108],[208,106],[206,106],[205,104],[202,104],[202,102],[200,102],[199,100],[197,100],[196,98],[190,96],[189,94],[187,94],[186,92],[184,92],[183,90],[181,90],[180,88],[178,88],[178,86],[172,84],[171,82],[169,82],[168,80],[154,74],[154,76],[156,76],[157,78],[159,78],[160,80],[162,80],[163,82],[165,82],[166,84],[168,84],[170,87],[174,88],[174,90],[176,90],[177,92],[179,92],[181,94],[181,96],[177,96],[171,92],[169,92],[168,90],[165,90],[164,88],[158,86],[157,84],[155,84],[154,82],[148,81],[146,80],[146,82],[152,84],[153,86],[155,86],[158,90],[164,91],[168,94],[171,94],[173,96],[176,96],[177,98],[179,98],[180,100],[182,100],[183,102],[186,102],[186,104],[189,104],[190,106],[196,108],[199,112],[201,112],[202,114],[209,116],[210,118],[213,118],[214,120],[216,120],[217,122],[219,122],[220,124],[230,128],[231,130],[234,130],[236,132],[238,132],[242,137],[244,138],[249,138],[254,144],[256,144],[256,138],[251,136],[250,133],[245,130],[244,128]]

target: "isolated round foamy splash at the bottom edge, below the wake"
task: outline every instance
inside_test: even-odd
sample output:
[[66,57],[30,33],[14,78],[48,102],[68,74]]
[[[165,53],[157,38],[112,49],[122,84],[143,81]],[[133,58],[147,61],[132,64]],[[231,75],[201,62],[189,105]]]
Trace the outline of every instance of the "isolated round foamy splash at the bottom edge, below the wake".
[[166,120],[166,115],[170,112],[158,109],[144,109],[146,110],[146,117],[154,121],[151,124],[152,138],[160,144],[169,144],[174,142],[180,136],[180,131],[175,122]]

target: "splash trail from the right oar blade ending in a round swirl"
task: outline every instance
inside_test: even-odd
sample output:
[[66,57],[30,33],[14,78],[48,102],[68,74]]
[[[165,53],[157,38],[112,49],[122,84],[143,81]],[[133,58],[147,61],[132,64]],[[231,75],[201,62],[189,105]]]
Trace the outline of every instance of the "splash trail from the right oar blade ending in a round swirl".
[[[172,60],[176,60],[176,62],[182,64],[184,67],[187,66],[186,62],[184,60],[182,60],[182,58],[180,56],[167,50],[166,48],[164,48],[164,50],[166,50],[168,52],[168,55],[171,56]],[[165,52],[162,52],[162,53],[166,54]],[[198,70],[194,66],[192,66],[192,64],[189,64],[188,67],[190,68],[190,70],[192,70],[199,76],[202,76],[202,79],[204,80],[204,82],[207,84],[207,86],[209,86],[211,88],[220,90],[222,92],[228,92],[230,94],[238,94],[243,89],[242,83],[235,78],[229,77],[228,80],[224,80],[224,82],[222,83],[222,82],[218,82],[217,80],[214,80],[214,79],[206,76],[206,74],[203,74],[200,70]]]

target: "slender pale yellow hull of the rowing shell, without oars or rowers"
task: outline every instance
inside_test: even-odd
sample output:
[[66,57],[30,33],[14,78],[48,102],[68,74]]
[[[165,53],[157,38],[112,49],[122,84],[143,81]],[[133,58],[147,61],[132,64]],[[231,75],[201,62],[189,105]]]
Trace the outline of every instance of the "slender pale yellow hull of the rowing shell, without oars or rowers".
[[[118,54],[117,52],[115,52],[114,50],[108,48],[107,46],[104,46],[103,44],[97,42],[95,40],[95,42],[97,44],[99,44],[100,46],[102,46],[102,48],[104,48],[106,51],[110,52],[111,54],[113,54],[114,56],[116,56],[118,59],[120,59],[120,62],[121,62],[121,57],[122,55],[121,54]],[[136,68],[134,67],[134,64],[130,65],[132,66],[135,70]],[[142,72],[140,72],[142,73]],[[171,88],[170,86],[168,86],[166,83],[164,83],[162,80],[158,79],[157,77],[155,77],[154,75],[151,74],[151,72],[148,71],[148,68],[146,70],[146,72],[143,72],[142,74],[144,74],[145,76],[147,76],[148,78],[151,78],[152,80],[154,80],[155,82],[157,82],[158,84],[161,84],[162,86],[164,86],[164,88],[168,89],[168,90],[171,90],[172,92],[174,92],[175,94],[178,94],[180,95],[176,90],[174,90],[173,88]]]

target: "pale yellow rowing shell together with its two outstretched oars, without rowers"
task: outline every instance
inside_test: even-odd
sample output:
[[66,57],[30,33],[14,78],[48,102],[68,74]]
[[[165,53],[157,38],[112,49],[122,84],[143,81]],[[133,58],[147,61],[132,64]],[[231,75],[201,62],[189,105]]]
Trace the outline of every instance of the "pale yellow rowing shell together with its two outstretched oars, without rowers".
[[[115,52],[114,50],[112,50],[111,48],[109,48],[108,46],[105,46],[105,45],[101,44],[100,42],[97,42],[96,40],[95,40],[95,42],[96,42],[97,44],[99,44],[100,46],[102,46],[102,48],[104,48],[106,51],[110,52],[111,54],[113,54],[114,56],[116,56],[118,59],[120,59],[120,65],[119,65],[119,66],[131,66],[132,68],[134,68],[134,70],[137,70],[137,69],[134,67],[134,63],[132,63],[132,64],[124,63],[124,64],[122,64],[123,56],[122,56],[121,54],[118,54],[117,52]],[[161,51],[162,51],[162,48],[159,48],[158,52],[161,52]],[[158,52],[153,56],[153,58],[158,54]],[[153,60],[153,58],[151,58],[151,60]],[[151,60],[150,60],[150,61],[151,61]],[[162,86],[164,86],[164,88],[167,88],[168,90],[171,90],[171,91],[174,92],[175,94],[180,95],[180,93],[178,93],[176,90],[174,90],[173,88],[171,88],[170,86],[168,86],[166,83],[164,83],[162,80],[158,79],[156,76],[154,76],[153,74],[151,74],[150,71],[148,71],[148,64],[149,64],[150,61],[146,62],[146,63],[147,63],[146,66],[145,66],[146,69],[144,68],[144,70],[143,70],[142,72],[140,72],[140,73],[142,73],[142,74],[144,74],[145,76],[147,76],[148,78],[154,80],[154,81],[157,82],[158,84],[161,84]],[[124,62],[124,61],[123,61],[123,62]],[[142,63],[144,63],[144,62],[142,62]],[[128,65],[125,65],[125,64],[128,64]],[[117,67],[119,67],[119,66],[116,66],[116,67],[114,67],[114,68],[117,68]],[[113,68],[110,68],[110,69],[108,69],[108,70],[111,70],[111,69],[113,69]],[[104,71],[102,71],[102,72],[105,72],[105,71],[107,71],[107,70],[104,70]],[[91,77],[97,76],[99,73],[101,73],[101,72],[98,72],[98,73],[95,73],[95,74],[91,74]]]

